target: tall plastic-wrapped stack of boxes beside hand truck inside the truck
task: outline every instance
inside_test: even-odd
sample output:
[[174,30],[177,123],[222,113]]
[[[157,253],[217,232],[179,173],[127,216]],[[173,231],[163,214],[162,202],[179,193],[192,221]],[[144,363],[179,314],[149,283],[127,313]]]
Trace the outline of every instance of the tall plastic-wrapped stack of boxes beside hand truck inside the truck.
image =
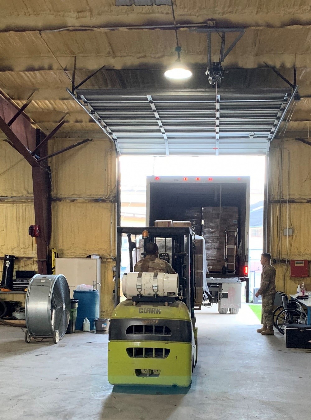
[[[202,215],[208,270],[221,273],[225,265],[225,228],[238,227],[238,207],[204,207]],[[229,248],[228,255],[232,253],[234,249]]]

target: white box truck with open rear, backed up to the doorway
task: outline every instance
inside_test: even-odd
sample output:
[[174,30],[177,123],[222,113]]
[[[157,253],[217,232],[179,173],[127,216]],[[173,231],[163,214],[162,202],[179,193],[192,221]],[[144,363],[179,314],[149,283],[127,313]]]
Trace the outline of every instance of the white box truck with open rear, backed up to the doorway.
[[147,177],[146,225],[190,222],[194,241],[204,238],[206,270],[196,270],[197,309],[202,302],[217,303],[220,313],[238,313],[242,283],[248,302],[249,201],[248,176]]

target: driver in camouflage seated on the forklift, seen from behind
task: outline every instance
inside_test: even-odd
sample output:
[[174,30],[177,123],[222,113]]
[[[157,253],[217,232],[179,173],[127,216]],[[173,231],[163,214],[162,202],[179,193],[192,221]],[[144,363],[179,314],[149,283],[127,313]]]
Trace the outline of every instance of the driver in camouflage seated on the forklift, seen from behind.
[[158,258],[159,248],[154,242],[145,246],[146,257],[136,262],[134,271],[137,273],[167,273],[175,274],[174,268],[165,260]]

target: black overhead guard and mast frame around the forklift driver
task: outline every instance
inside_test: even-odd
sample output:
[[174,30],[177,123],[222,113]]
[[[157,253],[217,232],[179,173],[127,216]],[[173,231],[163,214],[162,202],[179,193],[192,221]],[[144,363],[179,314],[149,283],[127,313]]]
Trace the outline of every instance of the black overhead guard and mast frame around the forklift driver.
[[[171,239],[172,241],[172,267],[179,275],[179,296],[177,300],[186,303],[191,318],[194,318],[195,277],[193,258],[193,237],[189,227],[117,227],[117,258],[115,271],[115,298],[114,307],[120,303],[120,272],[121,272],[121,247],[122,237],[128,239],[130,257],[130,272],[133,272],[133,249],[137,244],[137,237],[142,236],[143,231],[148,231],[149,236],[144,238],[144,252],[139,255],[145,257],[145,246],[148,242],[157,242],[157,239]],[[135,241],[133,241],[135,236]],[[165,258],[165,255],[163,255]],[[180,287],[181,286],[181,287]]]

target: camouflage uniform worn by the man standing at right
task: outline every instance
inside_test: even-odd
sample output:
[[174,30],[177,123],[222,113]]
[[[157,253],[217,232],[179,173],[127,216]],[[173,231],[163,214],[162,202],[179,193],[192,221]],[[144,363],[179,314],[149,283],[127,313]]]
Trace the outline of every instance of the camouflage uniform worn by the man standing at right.
[[275,268],[272,265],[265,265],[261,273],[260,289],[258,293],[262,297],[262,320],[264,325],[273,325],[273,304],[275,297]]

